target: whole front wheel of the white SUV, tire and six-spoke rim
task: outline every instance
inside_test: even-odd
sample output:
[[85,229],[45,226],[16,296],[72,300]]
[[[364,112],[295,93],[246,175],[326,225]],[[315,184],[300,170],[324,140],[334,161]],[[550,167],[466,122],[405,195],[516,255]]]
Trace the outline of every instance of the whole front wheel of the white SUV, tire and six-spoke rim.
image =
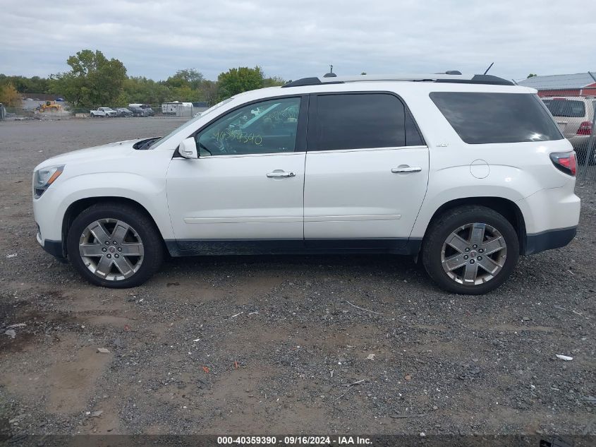
[[148,280],[162,263],[162,239],[140,210],[97,204],[73,221],[66,239],[68,258],[95,285],[134,287]]

